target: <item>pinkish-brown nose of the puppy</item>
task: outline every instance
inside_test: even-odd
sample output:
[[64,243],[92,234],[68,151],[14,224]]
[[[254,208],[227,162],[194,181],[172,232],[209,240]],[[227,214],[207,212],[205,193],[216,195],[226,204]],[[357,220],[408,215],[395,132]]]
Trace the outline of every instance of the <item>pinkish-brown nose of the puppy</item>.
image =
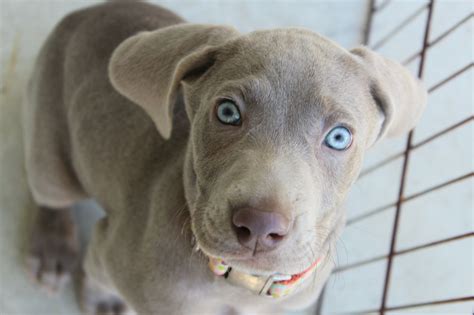
[[264,250],[277,247],[290,227],[290,221],[282,214],[253,208],[237,209],[232,223],[241,245]]

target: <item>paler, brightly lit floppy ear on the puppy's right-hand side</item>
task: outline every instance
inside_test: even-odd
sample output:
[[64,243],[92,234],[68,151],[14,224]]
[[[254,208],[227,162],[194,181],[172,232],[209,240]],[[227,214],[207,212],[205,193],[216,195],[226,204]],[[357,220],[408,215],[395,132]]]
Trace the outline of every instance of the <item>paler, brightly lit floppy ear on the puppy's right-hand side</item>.
[[371,96],[384,114],[378,139],[413,129],[426,106],[427,93],[421,82],[399,63],[365,47],[351,52],[368,71]]

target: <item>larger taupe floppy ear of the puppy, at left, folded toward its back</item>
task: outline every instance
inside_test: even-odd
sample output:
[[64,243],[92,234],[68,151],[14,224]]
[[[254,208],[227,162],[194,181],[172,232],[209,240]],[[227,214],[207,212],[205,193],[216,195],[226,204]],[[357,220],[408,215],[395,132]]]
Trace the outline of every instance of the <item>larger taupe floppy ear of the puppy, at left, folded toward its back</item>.
[[168,139],[180,82],[209,69],[216,46],[237,35],[230,27],[195,24],[139,33],[113,52],[110,80],[118,92],[143,107]]

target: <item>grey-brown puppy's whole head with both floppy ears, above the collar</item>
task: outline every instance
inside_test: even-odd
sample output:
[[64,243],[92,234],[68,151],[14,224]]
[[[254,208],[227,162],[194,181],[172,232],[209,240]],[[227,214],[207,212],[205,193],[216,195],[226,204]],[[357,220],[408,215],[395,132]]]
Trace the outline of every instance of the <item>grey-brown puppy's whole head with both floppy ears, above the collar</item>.
[[164,138],[182,90],[193,232],[206,254],[255,274],[299,273],[326,254],[364,152],[413,128],[426,98],[400,65],[303,29],[172,26],[127,39],[109,71]]

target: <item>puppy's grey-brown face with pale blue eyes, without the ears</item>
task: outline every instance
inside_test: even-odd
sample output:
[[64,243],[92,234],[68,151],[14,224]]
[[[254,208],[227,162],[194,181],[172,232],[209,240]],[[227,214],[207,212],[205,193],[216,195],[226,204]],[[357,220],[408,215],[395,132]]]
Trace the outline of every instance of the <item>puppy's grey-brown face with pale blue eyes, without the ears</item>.
[[185,85],[197,242],[249,273],[302,272],[334,245],[382,114],[360,65],[314,35],[252,33],[215,59]]

